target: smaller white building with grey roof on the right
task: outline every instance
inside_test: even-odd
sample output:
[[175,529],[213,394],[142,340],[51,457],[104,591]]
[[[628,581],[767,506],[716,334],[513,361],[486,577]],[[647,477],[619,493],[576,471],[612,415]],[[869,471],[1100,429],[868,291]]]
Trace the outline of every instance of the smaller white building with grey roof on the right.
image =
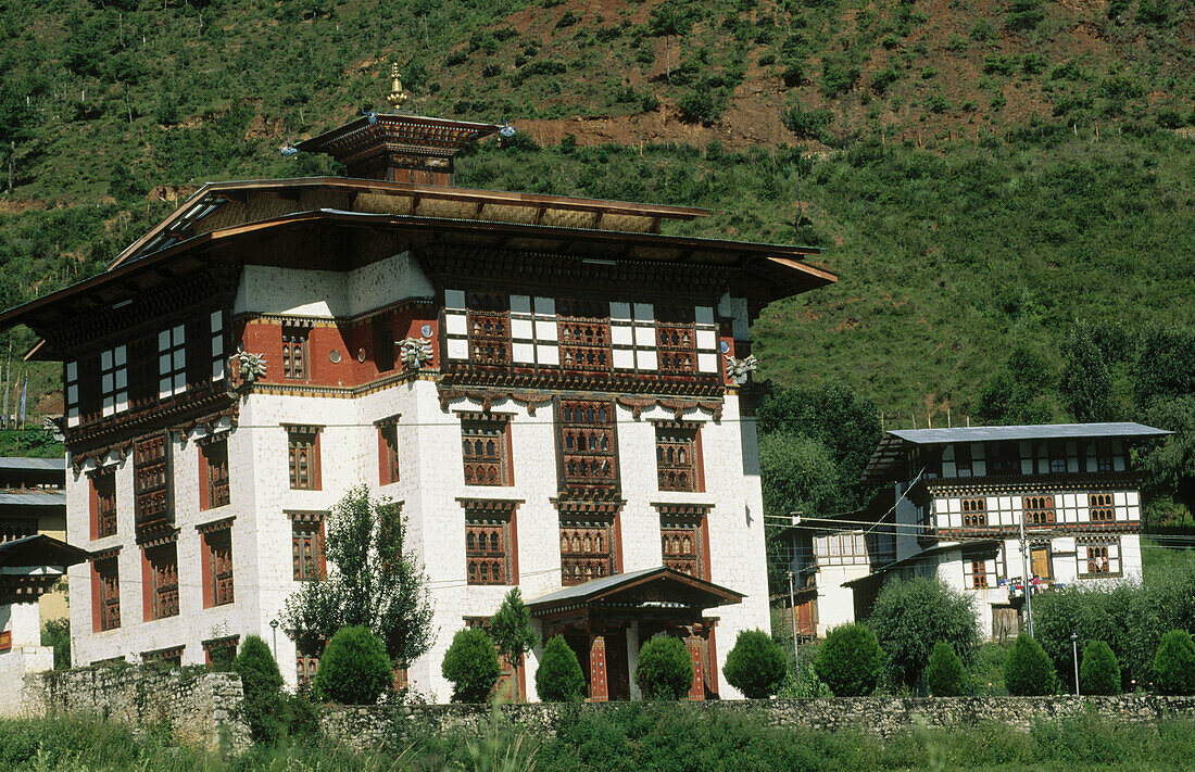
[[997,639],[1021,629],[1027,589],[1140,576],[1129,446],[1166,434],[1138,423],[888,431],[866,476],[891,492],[852,516],[857,528],[815,519],[805,534],[826,541],[807,560],[831,623],[819,632],[864,618],[889,576],[937,576],[974,594]]

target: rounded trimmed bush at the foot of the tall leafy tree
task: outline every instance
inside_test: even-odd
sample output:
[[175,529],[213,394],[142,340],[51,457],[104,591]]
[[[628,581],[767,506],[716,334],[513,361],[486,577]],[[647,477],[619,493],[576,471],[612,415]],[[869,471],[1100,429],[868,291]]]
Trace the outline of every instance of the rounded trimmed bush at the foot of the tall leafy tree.
[[393,682],[381,638],[368,627],[341,627],[319,658],[311,691],[327,703],[373,705]]

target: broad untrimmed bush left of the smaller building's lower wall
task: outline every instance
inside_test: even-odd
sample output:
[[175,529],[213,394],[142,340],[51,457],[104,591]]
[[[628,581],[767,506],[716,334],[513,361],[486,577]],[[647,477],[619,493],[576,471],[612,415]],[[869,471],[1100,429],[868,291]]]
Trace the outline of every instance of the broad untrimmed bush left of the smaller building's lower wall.
[[868,624],[888,654],[889,674],[905,686],[920,682],[934,643],[948,644],[963,662],[979,645],[973,598],[936,577],[885,582]]

